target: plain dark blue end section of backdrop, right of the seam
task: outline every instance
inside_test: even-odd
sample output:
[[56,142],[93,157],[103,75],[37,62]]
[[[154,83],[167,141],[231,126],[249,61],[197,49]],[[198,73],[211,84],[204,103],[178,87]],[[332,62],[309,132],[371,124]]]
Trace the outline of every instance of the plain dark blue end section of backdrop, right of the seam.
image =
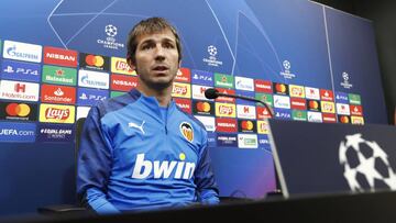
[[[366,121],[386,123],[373,24],[367,20],[351,19],[350,14],[329,9],[326,10],[326,15],[334,91],[359,92]],[[350,88],[341,85],[345,82],[345,74]]]

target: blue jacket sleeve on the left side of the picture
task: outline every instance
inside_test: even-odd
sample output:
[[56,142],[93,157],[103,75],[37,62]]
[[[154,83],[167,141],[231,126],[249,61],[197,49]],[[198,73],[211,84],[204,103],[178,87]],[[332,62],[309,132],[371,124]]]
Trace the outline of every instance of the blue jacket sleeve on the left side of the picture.
[[98,214],[120,211],[107,200],[107,182],[111,171],[111,141],[103,131],[99,109],[92,107],[81,133],[77,158],[77,194]]

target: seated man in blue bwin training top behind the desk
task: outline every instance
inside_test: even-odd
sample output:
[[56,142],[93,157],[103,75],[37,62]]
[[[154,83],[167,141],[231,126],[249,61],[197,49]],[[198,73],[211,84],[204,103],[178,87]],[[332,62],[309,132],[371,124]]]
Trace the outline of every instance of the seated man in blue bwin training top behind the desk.
[[207,133],[172,100],[182,59],[164,19],[136,24],[127,59],[136,89],[91,108],[78,156],[77,192],[99,214],[219,202]]

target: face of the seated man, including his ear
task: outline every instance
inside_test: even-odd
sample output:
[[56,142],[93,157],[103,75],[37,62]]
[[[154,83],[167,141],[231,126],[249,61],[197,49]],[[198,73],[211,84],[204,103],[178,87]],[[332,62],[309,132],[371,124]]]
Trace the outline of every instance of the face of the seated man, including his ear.
[[169,87],[179,68],[175,35],[169,30],[138,37],[135,63],[130,63],[142,80],[154,90]]

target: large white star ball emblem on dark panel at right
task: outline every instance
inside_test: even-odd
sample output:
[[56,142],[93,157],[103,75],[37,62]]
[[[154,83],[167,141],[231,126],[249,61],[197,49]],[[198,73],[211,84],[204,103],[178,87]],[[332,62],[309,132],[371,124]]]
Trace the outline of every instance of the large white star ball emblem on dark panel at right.
[[376,142],[362,138],[362,134],[346,135],[339,147],[343,176],[352,191],[374,191],[375,186],[396,189],[396,175],[389,166],[387,154]]

